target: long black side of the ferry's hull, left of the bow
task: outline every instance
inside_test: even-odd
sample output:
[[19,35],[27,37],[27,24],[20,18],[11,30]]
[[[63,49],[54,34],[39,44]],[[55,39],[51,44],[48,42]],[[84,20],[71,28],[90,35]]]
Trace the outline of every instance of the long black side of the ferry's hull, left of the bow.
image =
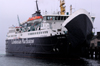
[[32,39],[34,43],[27,44],[12,44],[12,41],[22,41],[23,39],[6,40],[7,55],[20,57],[48,57],[58,55],[64,56],[67,53],[67,40],[65,35],[28,38],[27,40]]

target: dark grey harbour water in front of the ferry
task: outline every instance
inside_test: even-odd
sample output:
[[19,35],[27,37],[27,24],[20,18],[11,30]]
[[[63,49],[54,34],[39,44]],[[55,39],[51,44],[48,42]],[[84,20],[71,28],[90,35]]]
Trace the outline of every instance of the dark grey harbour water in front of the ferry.
[[82,58],[81,60],[21,58],[0,54],[0,66],[100,66],[99,60]]

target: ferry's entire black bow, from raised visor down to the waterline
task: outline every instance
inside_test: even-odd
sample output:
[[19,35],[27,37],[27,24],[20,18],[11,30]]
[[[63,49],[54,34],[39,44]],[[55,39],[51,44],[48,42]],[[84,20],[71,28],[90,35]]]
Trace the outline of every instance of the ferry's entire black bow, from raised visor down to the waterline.
[[80,56],[84,52],[83,49],[89,47],[92,39],[92,22],[85,15],[80,14],[68,22],[65,27],[68,29],[69,52],[71,55]]

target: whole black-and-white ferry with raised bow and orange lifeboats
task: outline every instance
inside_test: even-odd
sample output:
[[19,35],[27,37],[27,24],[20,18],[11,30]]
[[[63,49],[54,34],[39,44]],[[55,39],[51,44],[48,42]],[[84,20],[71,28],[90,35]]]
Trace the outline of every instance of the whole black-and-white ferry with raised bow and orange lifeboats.
[[[81,47],[92,38],[95,17],[79,9],[65,15],[64,0],[60,0],[61,14],[41,15],[37,11],[18,27],[9,27],[6,54],[20,57],[77,56]],[[72,9],[72,8],[71,8]]]

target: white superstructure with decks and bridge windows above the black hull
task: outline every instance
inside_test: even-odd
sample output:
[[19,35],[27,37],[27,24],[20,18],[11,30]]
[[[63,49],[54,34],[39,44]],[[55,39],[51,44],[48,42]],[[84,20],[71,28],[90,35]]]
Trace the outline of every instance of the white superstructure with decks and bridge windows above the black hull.
[[48,37],[65,34],[67,29],[62,27],[62,23],[68,15],[44,15],[43,20],[37,19],[27,21],[20,27],[10,27],[7,39]]

